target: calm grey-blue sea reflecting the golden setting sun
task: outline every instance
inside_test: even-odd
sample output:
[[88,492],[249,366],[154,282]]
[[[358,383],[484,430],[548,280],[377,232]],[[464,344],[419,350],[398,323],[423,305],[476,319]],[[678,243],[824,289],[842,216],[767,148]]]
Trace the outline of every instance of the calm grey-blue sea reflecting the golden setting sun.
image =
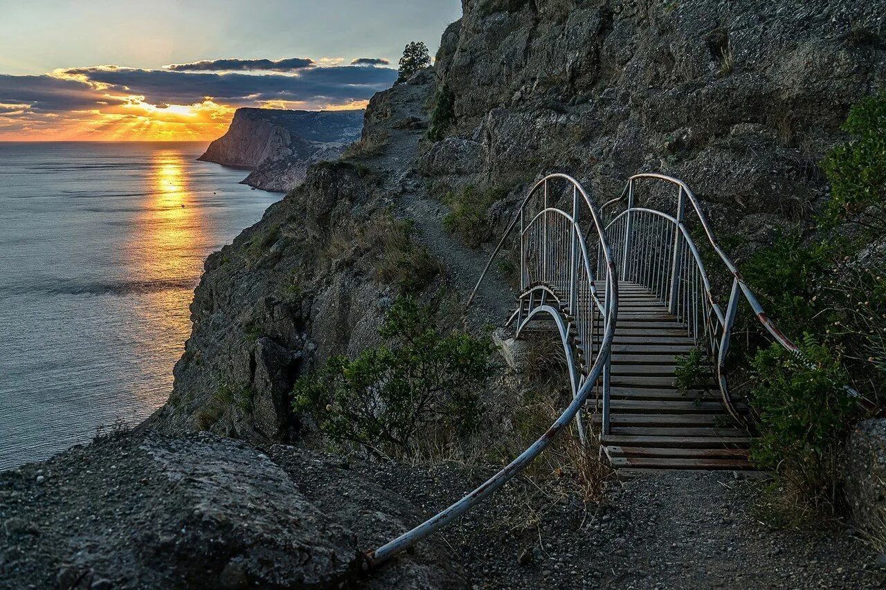
[[282,195],[206,143],[0,143],[0,470],[172,389],[206,255]]

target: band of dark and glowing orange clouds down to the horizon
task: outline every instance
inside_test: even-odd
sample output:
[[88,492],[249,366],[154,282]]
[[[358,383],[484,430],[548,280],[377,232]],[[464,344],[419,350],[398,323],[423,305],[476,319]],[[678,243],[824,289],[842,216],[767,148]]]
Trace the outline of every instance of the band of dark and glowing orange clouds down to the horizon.
[[312,63],[264,74],[113,65],[0,74],[0,139],[212,139],[240,106],[364,108],[397,78],[377,64]]

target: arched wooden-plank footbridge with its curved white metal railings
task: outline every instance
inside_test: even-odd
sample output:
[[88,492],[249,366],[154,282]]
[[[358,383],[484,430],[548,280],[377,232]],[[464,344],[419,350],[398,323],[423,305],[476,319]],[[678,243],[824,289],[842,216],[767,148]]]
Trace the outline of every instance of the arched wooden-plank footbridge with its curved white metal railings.
[[[546,176],[529,190],[474,293],[505,248],[518,249],[520,260],[516,310],[505,325],[516,338],[540,330],[559,336],[571,403],[507,467],[369,552],[370,563],[483,501],[572,422],[581,442],[598,441],[623,473],[751,469],[747,408],[733,400],[726,371],[738,306],[748,305],[776,342],[799,349],[767,318],[685,182],[635,175],[618,198],[598,206],[571,176]],[[726,284],[715,289],[706,264],[718,265]],[[694,351],[710,376],[680,391],[680,356]]]

